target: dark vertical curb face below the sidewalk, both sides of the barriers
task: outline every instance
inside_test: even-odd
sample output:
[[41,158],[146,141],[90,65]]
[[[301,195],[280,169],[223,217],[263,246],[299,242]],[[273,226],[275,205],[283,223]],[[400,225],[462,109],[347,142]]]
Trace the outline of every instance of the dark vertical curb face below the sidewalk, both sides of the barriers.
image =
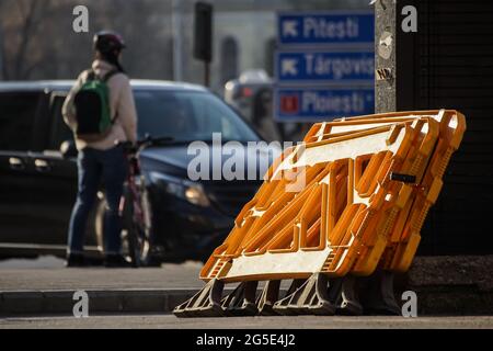
[[[408,286],[419,297],[419,315],[492,315],[493,292],[471,285]],[[89,314],[171,314],[177,305],[197,293],[196,288],[85,290]],[[72,316],[72,290],[0,292],[0,317]],[[225,288],[225,294],[232,288]],[[399,293],[395,294],[397,303]]]

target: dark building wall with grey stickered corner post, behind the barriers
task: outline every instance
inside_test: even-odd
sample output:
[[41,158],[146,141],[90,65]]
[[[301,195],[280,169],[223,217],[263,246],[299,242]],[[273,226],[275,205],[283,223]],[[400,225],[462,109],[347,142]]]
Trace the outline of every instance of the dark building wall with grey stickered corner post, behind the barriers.
[[[377,111],[455,109],[467,118],[460,149],[422,230],[422,254],[493,253],[493,1],[382,0],[376,4]],[[417,33],[401,31],[402,7],[417,9]],[[397,7],[397,8],[393,8]],[[378,54],[390,29],[392,57]],[[394,56],[393,56],[394,55]]]

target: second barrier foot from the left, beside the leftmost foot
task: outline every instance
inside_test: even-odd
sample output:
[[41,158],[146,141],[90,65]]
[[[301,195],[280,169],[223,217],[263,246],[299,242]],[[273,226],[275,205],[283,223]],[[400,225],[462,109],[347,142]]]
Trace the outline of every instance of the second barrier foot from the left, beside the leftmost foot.
[[255,304],[257,281],[240,283],[234,291],[222,298],[221,306],[228,316],[255,316],[259,309]]

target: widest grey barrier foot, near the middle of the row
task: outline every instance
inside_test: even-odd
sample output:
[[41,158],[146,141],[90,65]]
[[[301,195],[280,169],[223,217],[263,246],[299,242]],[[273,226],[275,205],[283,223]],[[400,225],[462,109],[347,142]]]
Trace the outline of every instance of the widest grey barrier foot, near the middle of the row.
[[280,315],[328,315],[335,313],[329,301],[329,280],[325,274],[313,273],[300,287],[274,304]]

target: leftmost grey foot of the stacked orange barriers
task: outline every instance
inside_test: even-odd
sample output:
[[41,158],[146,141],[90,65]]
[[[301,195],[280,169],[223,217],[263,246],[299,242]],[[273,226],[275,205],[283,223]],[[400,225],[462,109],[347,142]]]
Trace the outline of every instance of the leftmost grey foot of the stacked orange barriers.
[[173,314],[176,317],[220,317],[225,316],[221,307],[221,296],[225,283],[213,279],[197,294],[185,303],[176,306]]

